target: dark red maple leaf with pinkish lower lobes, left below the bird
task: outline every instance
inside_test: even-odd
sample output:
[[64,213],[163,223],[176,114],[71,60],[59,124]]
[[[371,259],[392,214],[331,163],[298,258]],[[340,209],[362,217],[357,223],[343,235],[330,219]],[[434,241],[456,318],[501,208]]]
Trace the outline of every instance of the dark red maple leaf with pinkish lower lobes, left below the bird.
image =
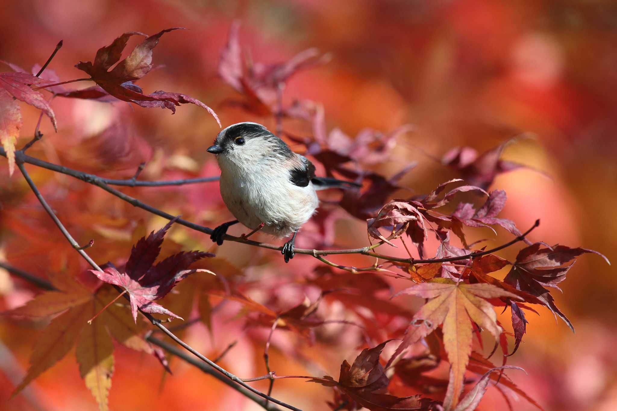
[[[154,303],[163,298],[172,288],[189,274],[194,272],[209,272],[204,269],[188,270],[188,266],[204,257],[213,257],[214,254],[202,251],[189,251],[173,254],[163,261],[154,264],[159,256],[160,245],[163,243],[165,233],[172,226],[175,219],[168,222],[165,227],[157,232],[142,237],[133,246],[131,256],[126,262],[123,272],[118,271],[113,264],[106,264],[103,271],[90,270],[103,282],[118,285],[125,289],[131,302],[133,320],[137,321],[137,311],[150,312],[152,314],[165,314],[180,318],[165,307]],[[212,274],[212,273],[211,273]]]

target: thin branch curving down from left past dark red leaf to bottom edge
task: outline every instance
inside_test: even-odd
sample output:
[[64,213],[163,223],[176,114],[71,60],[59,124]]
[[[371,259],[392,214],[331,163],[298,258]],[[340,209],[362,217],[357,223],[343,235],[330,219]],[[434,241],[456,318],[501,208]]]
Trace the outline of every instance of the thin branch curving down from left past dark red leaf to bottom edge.
[[[94,269],[96,269],[97,271],[102,271],[101,267],[99,267],[96,262],[93,261],[93,259],[90,258],[90,256],[88,256],[88,254],[83,251],[80,250],[80,246],[78,245],[78,243],[75,241],[75,238],[72,237],[72,235],[70,235],[70,233],[68,232],[68,230],[64,227],[64,225],[62,225],[62,222],[60,222],[60,220],[57,218],[56,214],[54,213],[54,211],[51,209],[51,207],[49,206],[49,204],[47,203],[47,201],[45,201],[45,199],[43,198],[43,196],[41,195],[41,193],[39,192],[39,190],[36,188],[36,185],[34,184],[34,182],[32,181],[32,179],[30,178],[30,175],[28,174],[28,172],[26,171],[25,167],[23,166],[23,159],[22,159],[22,153],[20,153],[20,155],[18,156],[18,158],[16,158],[15,163],[17,163],[17,166],[19,167],[19,170],[21,171],[23,177],[26,179],[26,181],[28,182],[28,185],[30,185],[30,189],[33,191],[33,193],[35,193],[36,198],[38,198],[39,202],[41,203],[41,205],[43,206],[43,208],[45,209],[45,211],[47,211],[47,213],[49,214],[49,217],[51,217],[51,219],[54,221],[54,223],[56,223],[56,226],[58,227],[58,229],[60,230],[60,232],[62,232],[62,234],[64,235],[64,237],[68,240],[68,242],[73,246],[73,248],[75,248],[75,250],[77,250],[78,253],[80,253],[80,255],[86,260],[88,261],[88,264],[90,264]],[[119,288],[119,287],[118,287]],[[120,292],[122,292],[122,290],[120,289]],[[125,295],[126,298],[128,298],[128,295]],[[167,328],[165,328],[164,325],[161,324],[160,320],[155,319],[151,314],[147,313],[147,312],[143,312],[141,311],[141,309],[139,310],[141,312],[141,314],[143,314],[148,320],[150,320],[150,322],[152,324],[154,324],[156,327],[159,328],[159,330],[161,330],[162,332],[164,332],[169,338],[171,338],[173,341],[175,341],[176,343],[180,344],[181,346],[184,347],[184,349],[186,349],[187,351],[191,352],[191,354],[193,354],[194,356],[198,357],[199,359],[201,359],[202,361],[204,361],[205,363],[207,363],[208,365],[210,365],[210,367],[214,368],[215,370],[217,370],[218,372],[222,373],[223,375],[225,375],[227,378],[229,378],[231,381],[234,381],[236,383],[238,383],[238,385],[243,386],[244,388],[248,389],[249,391],[252,391],[253,393],[257,394],[260,397],[263,397],[271,402],[274,402],[275,404],[279,404],[283,407],[286,407],[290,410],[294,410],[294,411],[301,411],[300,409],[297,409],[296,407],[294,407],[293,405],[289,405],[284,403],[283,401],[279,401],[276,398],[270,397],[267,394],[263,394],[261,391],[259,391],[258,389],[255,389],[249,385],[247,385],[241,378],[239,378],[236,375],[233,375],[232,373],[228,372],[227,370],[225,370],[224,368],[220,367],[219,365],[215,364],[214,362],[212,362],[211,360],[207,359],[207,357],[203,356],[200,352],[196,351],[195,349],[191,348],[191,346],[189,346],[188,344],[184,343],[184,341],[180,340],[180,338],[178,338],[175,334],[173,334],[172,332],[170,332]]]

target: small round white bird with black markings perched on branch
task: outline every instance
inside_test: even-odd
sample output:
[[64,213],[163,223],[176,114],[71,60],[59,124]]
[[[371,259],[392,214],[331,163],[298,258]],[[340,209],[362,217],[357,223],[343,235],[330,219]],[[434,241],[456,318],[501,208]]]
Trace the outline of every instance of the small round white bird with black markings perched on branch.
[[237,123],[218,133],[209,153],[221,169],[220,190],[236,220],[221,224],[210,235],[223,243],[227,229],[241,222],[251,230],[263,223],[263,232],[278,238],[292,235],[281,254],[294,258],[298,230],[317,210],[315,190],[333,187],[352,189],[360,184],[330,177],[316,177],[315,166],[265,126]]

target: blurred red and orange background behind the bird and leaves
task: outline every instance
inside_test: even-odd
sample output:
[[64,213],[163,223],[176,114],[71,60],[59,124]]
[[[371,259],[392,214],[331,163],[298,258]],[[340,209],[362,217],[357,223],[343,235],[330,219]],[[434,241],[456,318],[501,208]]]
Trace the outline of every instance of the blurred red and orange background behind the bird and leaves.
[[[184,26],[189,30],[162,38],[154,51],[154,62],[165,67],[152,71],[139,82],[140,86],[148,92],[164,89],[196,97],[215,109],[223,126],[257,121],[273,129],[273,118],[255,116],[226,104],[238,95],[218,78],[217,62],[230,24],[236,19],[242,22],[241,43],[254,60],[278,62],[308,47],[331,53],[331,62],[294,76],[284,94],[286,102],[303,98],[323,104],[328,129],[338,127],[355,136],[365,127],[389,131],[406,123],[415,126],[414,132],[398,138],[392,160],[379,165],[379,173],[391,176],[417,162],[402,185],[426,193],[456,177],[431,155],[439,158],[458,145],[470,145],[483,152],[519,136],[507,146],[503,158],[529,165],[550,177],[529,169],[498,176],[491,188],[508,193],[503,216],[516,221],[521,230],[539,218],[541,225],[532,232],[531,240],[584,246],[617,261],[617,218],[613,214],[617,202],[617,4],[613,1],[5,0],[0,16],[0,59],[28,68],[43,63],[57,41],[64,39],[64,47],[50,68],[62,80],[80,78],[83,75],[73,65],[92,60],[99,47],[124,31],[153,34]],[[135,39],[131,40],[128,50],[135,43]],[[110,175],[125,177],[130,177],[144,160],[148,165],[143,176],[151,179],[186,173],[215,175],[218,171],[213,158],[205,152],[218,127],[198,107],[180,107],[173,116],[125,104],[72,99],[56,99],[53,107],[59,131],[54,134],[44,119],[41,130],[46,136],[30,155],[52,162],[60,158],[65,165],[96,173],[114,169],[117,172]],[[38,119],[38,111],[32,107],[22,105],[22,113],[20,144],[29,139]],[[130,130],[120,137],[99,136],[114,121],[128,122]],[[286,128],[300,134],[310,132],[307,124],[297,122],[286,123]],[[10,194],[20,193],[18,197],[22,198],[27,189],[19,176],[9,179],[6,166],[0,165],[0,201],[11,205]],[[110,242],[123,238],[130,247],[134,227],[128,220],[112,222],[109,217],[118,207],[115,199],[96,187],[72,181],[69,184],[62,176],[47,171],[33,169],[32,173],[38,181],[56,179],[62,187],[73,190],[69,194],[49,191],[46,194],[52,199],[70,202],[71,196],[87,195],[88,213],[106,214],[110,219],[101,222],[98,234],[93,235],[107,236]],[[210,227],[229,216],[218,197],[217,183],[203,185],[201,191],[195,187],[170,187],[157,193],[140,193],[141,198],[150,196],[147,198],[151,203],[170,213],[178,208],[173,197],[186,196],[193,210],[189,216]],[[54,238],[49,241],[57,242],[57,249],[69,247],[62,243],[55,227],[43,221],[46,216],[37,214],[41,217],[27,219],[30,208],[36,206],[33,201],[28,204],[0,219],[4,226],[0,227],[0,255],[15,266],[44,275],[48,270],[44,256],[37,259],[32,256],[35,253],[20,254],[20,244],[25,240],[23,234],[15,234],[15,221],[21,218],[20,224],[26,227],[49,227],[49,236]],[[60,216],[69,219],[74,230],[89,224],[85,214],[80,214],[81,220],[70,217],[84,210],[56,203],[59,207],[63,204],[67,210],[60,210]],[[0,213],[3,210],[0,207]],[[161,219],[140,211],[130,213],[127,219],[141,219],[147,229],[162,226]],[[13,222],[9,224],[9,220]],[[109,232],[101,234],[103,226],[108,231],[114,226],[115,237]],[[363,246],[365,227],[362,221],[344,218],[336,224],[335,242],[342,247]],[[230,232],[237,235],[242,230],[234,227]],[[185,232],[178,234],[183,235],[186,237]],[[478,233],[476,239],[486,235]],[[358,244],[358,238],[362,243]],[[499,232],[495,243],[509,238]],[[101,241],[105,244],[105,240]],[[205,236],[191,241],[194,247],[204,250],[212,244]],[[104,250],[95,250],[93,254],[98,258],[106,258]],[[389,251],[405,256],[404,250]],[[78,259],[72,250],[61,252],[66,253],[69,265]],[[238,244],[218,250],[219,255],[232,259],[236,266],[265,284],[297,275],[307,264],[315,265],[302,256],[288,266],[281,266],[279,261],[273,264],[263,260],[268,253],[271,251]],[[516,250],[502,253],[507,258],[515,254]],[[336,261],[361,264],[358,261],[366,259],[355,256]],[[528,375],[511,376],[546,410],[617,409],[615,274],[597,256],[584,256],[561,283],[563,294],[553,291],[561,311],[576,327],[576,334],[542,307],[540,316],[528,315],[528,334],[509,359],[509,364],[525,368]],[[27,301],[33,295],[31,290],[0,271],[5,308]],[[289,306],[301,301],[300,290],[292,285],[279,290],[280,298],[289,301]],[[336,307],[328,309],[336,311]],[[507,323],[508,315],[503,316],[503,322]],[[223,322],[217,316],[214,319],[212,340],[201,325],[186,334],[190,344],[209,356],[222,351],[241,328],[239,322]],[[34,401],[49,410],[96,409],[72,355],[35,380],[29,391],[9,400],[14,380],[20,377],[7,375],[7,370],[23,372],[27,367],[36,341],[34,331],[40,327],[0,319],[0,338],[12,352],[0,352],[0,362],[8,362],[6,358],[10,357],[17,360],[17,368],[0,368],[0,408],[32,409]],[[260,333],[263,341],[262,334],[267,335],[267,330],[253,333]],[[278,364],[273,368],[279,375],[313,371],[315,375],[336,376],[338,364],[357,355],[352,342],[347,346],[339,344],[327,353],[320,349],[319,342],[304,346],[302,354],[322,367],[307,371],[302,360],[289,357],[292,350],[286,344],[291,343],[284,337],[282,333],[271,354],[271,364]],[[255,336],[242,338],[226,359],[226,367],[239,375],[263,373],[263,346],[254,344],[257,340]],[[139,354],[118,347],[110,409],[259,409],[189,365],[174,360],[172,367],[174,375],[162,378],[154,359],[139,359]],[[265,389],[267,384],[256,386]],[[277,381],[274,393],[282,401],[294,401],[307,410],[325,409],[323,401],[331,397],[328,389],[302,380]],[[480,409],[503,409],[504,404],[499,393],[489,390]],[[534,409],[523,399],[514,406],[516,410]]]

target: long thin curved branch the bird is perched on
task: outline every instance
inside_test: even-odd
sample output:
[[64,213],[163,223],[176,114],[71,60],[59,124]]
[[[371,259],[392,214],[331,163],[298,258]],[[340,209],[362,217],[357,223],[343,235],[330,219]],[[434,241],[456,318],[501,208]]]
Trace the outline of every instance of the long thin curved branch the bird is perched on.
[[[6,157],[6,152],[4,151],[4,149],[0,148],[0,155],[3,155],[4,157]],[[64,167],[64,166],[59,166],[53,163],[48,163],[48,161],[39,160],[38,158],[30,157],[28,155],[23,154],[21,150],[17,150],[15,152],[15,160],[19,161],[20,163],[29,163],[29,164],[36,165],[42,168],[50,169],[52,171],[57,171],[58,173],[67,174],[68,176],[72,176],[82,181],[88,182],[89,184],[93,184],[93,185],[96,185],[97,187],[101,187],[101,189],[106,190],[107,192],[115,195],[116,197],[130,203],[131,205],[135,207],[141,208],[142,210],[146,210],[149,213],[166,218],[168,220],[175,218],[175,216],[172,216],[172,214],[165,213],[165,211],[161,211],[157,208],[147,205],[146,203],[143,203],[137,200],[136,198],[131,197],[130,195],[126,195],[125,193],[120,192],[117,189],[110,187],[109,185],[114,184],[114,183],[109,182],[108,179],[95,176],[94,174],[83,173],[81,171],[77,171],[77,170]],[[126,180],[124,181],[126,182]],[[137,183],[138,182],[135,182],[136,185]],[[125,185],[130,185],[130,184],[125,184]],[[195,224],[194,222],[186,221],[184,219],[178,219],[176,223],[182,226],[185,226],[185,227],[189,227],[189,229],[202,232],[204,234],[208,234],[208,235],[212,234],[212,229],[210,229],[209,227],[200,226],[199,224]],[[387,261],[404,262],[407,264],[426,264],[426,263],[431,263],[431,262],[451,262],[451,261],[459,261],[459,260],[470,259],[470,258],[473,259],[479,256],[494,253],[495,251],[502,250],[503,248],[506,248],[510,245],[513,245],[517,242],[524,240],[525,236],[528,235],[529,232],[531,232],[537,226],[539,226],[539,224],[540,224],[540,220],[536,220],[535,224],[529,230],[519,235],[518,237],[515,237],[510,242],[507,242],[503,245],[492,248],[491,250],[473,251],[472,253],[465,254],[463,256],[454,256],[454,257],[448,257],[448,258],[428,258],[428,259],[400,258],[400,257],[395,257],[395,256],[389,256],[386,254],[379,254],[379,253],[371,252],[373,248],[381,245],[381,243],[376,243],[374,245],[365,246],[362,248],[352,248],[349,250],[307,250],[303,248],[296,248],[294,249],[294,252],[296,254],[309,254],[312,256],[326,256],[329,254],[363,254],[366,256],[381,258]],[[227,241],[243,243],[243,244],[257,246],[261,248],[267,248],[269,250],[278,250],[278,251],[283,250],[282,246],[257,242],[253,240],[245,240],[241,237],[234,237],[233,235],[226,234],[223,236],[223,239]]]

